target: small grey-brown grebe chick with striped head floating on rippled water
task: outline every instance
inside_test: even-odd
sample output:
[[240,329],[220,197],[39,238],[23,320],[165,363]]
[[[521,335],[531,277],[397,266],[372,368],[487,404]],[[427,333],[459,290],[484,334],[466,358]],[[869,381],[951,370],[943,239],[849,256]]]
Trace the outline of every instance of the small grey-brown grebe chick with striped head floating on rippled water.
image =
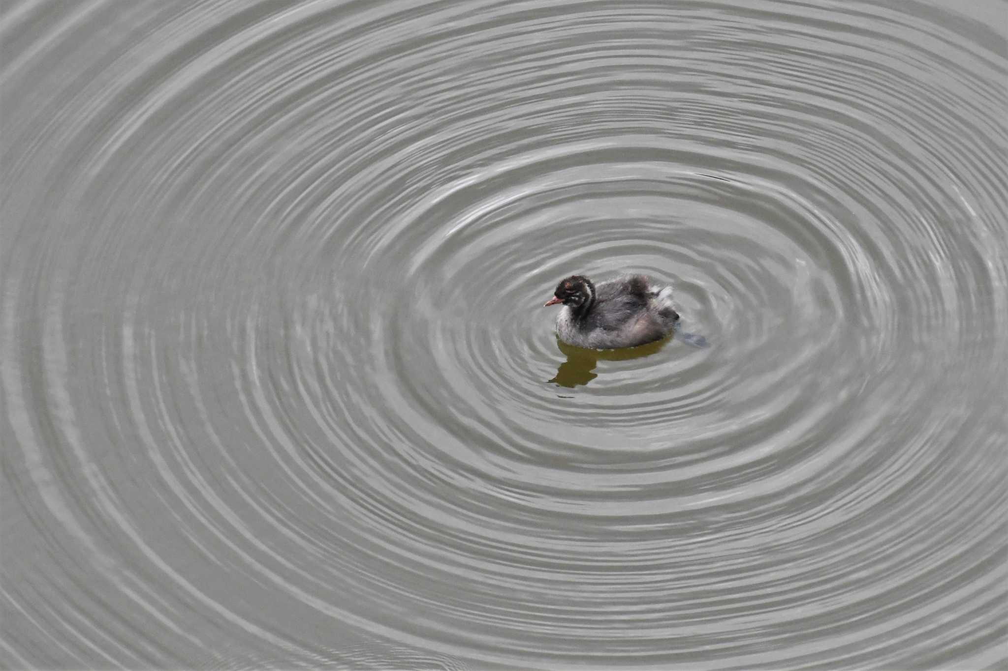
[[624,275],[598,285],[583,275],[560,280],[546,305],[562,303],[556,334],[569,345],[591,349],[636,347],[672,332],[679,315],[672,288],[652,286],[643,275]]

